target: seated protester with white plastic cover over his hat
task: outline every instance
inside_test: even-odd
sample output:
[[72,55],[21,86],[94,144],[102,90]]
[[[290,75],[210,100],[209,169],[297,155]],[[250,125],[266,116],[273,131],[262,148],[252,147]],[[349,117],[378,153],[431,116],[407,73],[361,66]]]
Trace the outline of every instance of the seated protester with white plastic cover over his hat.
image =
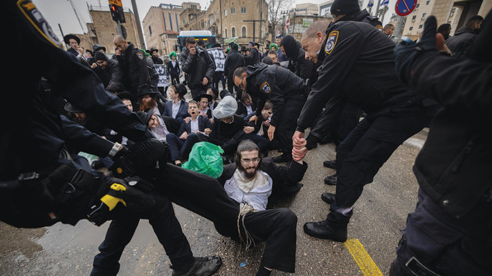
[[230,94],[221,99],[214,109],[214,131],[210,134],[209,142],[221,146],[226,162],[233,159],[239,139],[244,135],[246,121],[236,115],[237,101]]

